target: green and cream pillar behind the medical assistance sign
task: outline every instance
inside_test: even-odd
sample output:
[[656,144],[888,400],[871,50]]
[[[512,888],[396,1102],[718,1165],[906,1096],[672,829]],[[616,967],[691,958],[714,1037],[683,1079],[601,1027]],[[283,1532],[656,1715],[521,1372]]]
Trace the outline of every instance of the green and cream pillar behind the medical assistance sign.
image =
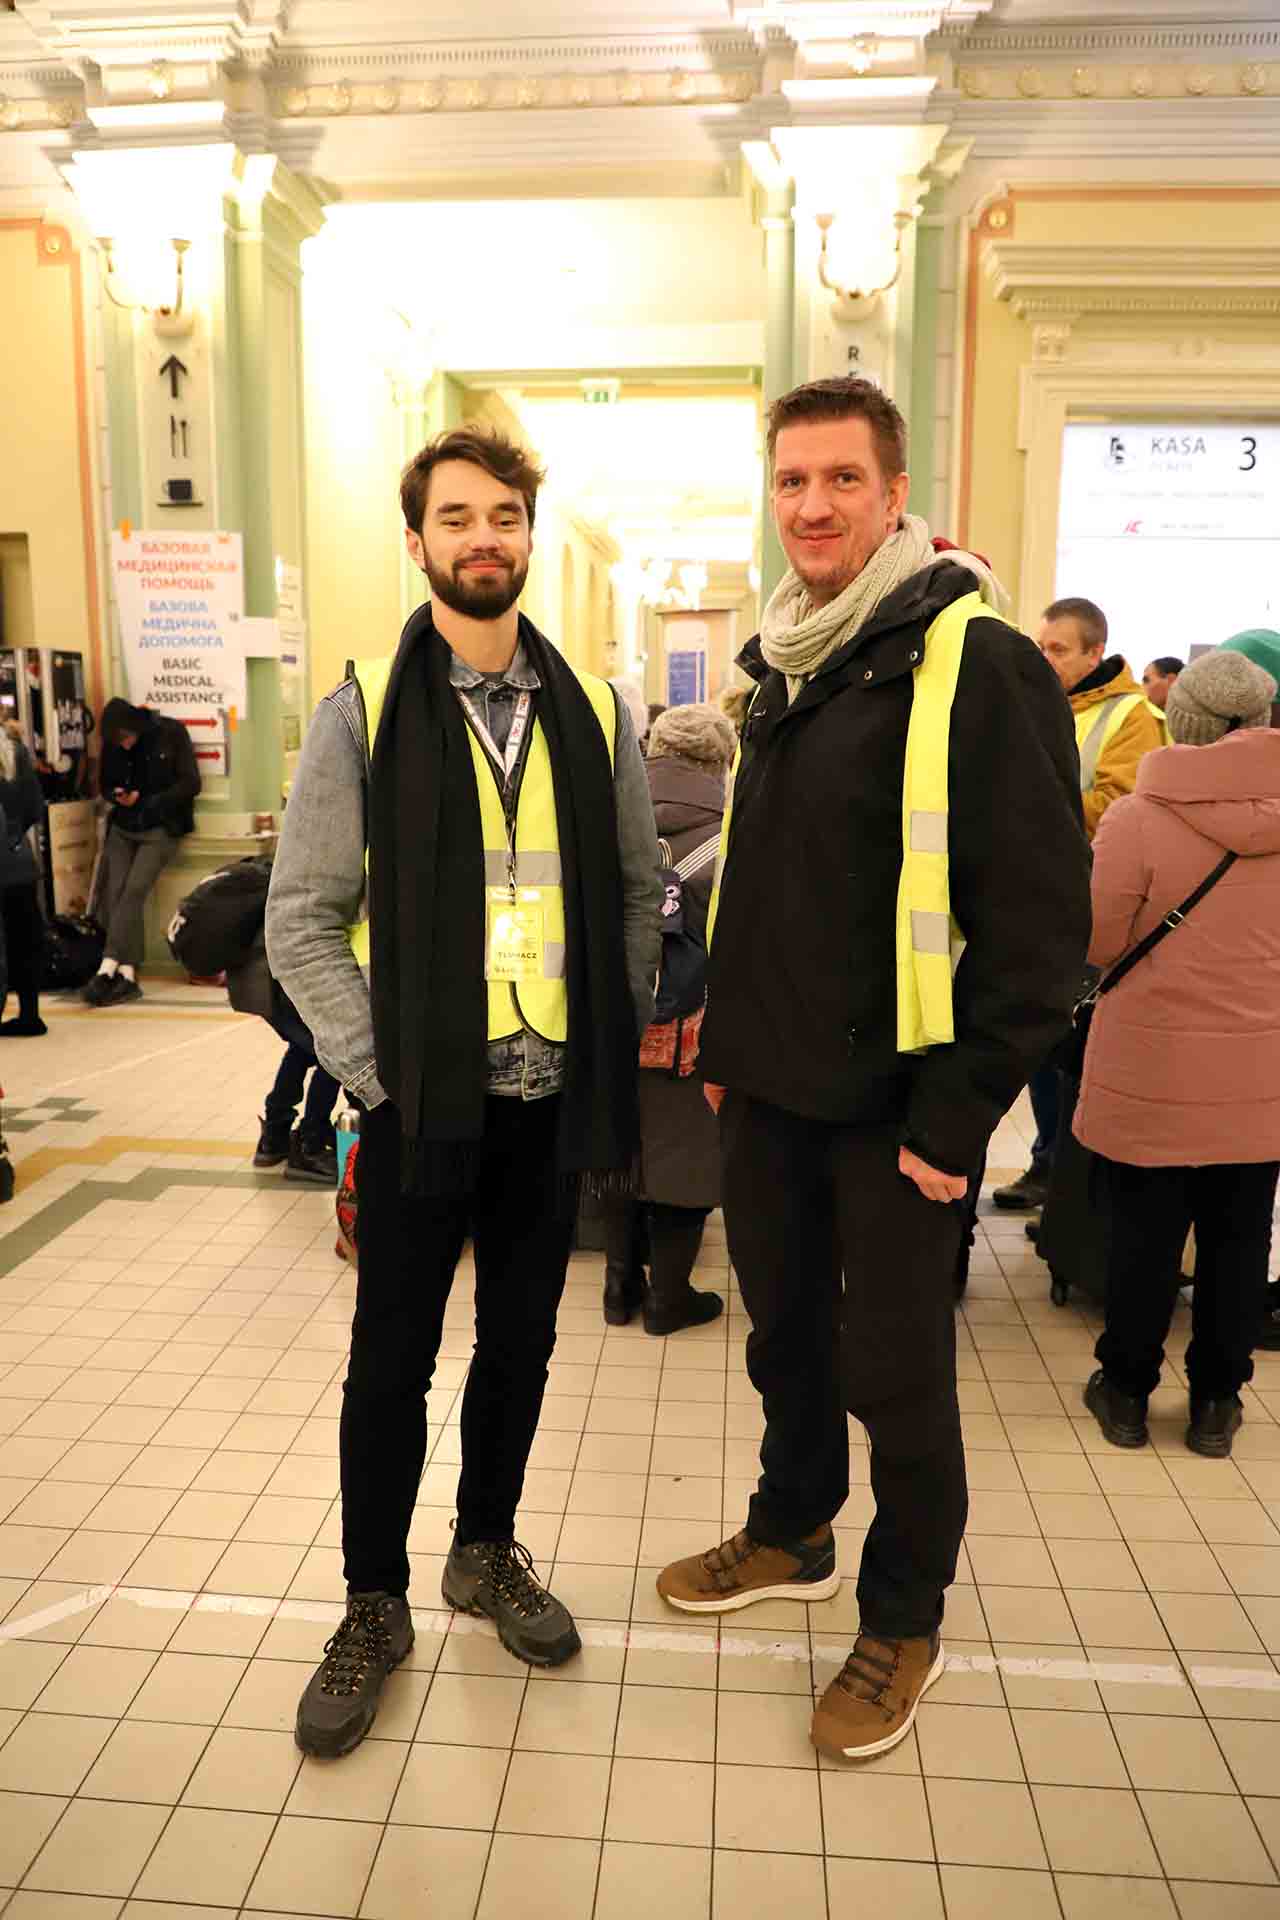
[[[182,169],[182,150],[155,148],[148,159],[157,179]],[[129,177],[136,180],[136,156]],[[244,612],[292,614],[282,651],[296,659],[248,660],[248,712],[236,716],[226,776],[205,774],[196,833],[148,908],[148,966],[165,970],[163,927],[177,900],[203,872],[257,851],[257,814],[280,814],[309,712],[299,248],[324,207],[273,156],[234,148],[219,150],[217,180],[192,173],[192,182],[180,324],[104,300],[113,518],[144,532],[238,532]],[[177,397],[169,355],[182,363]],[[175,474],[188,478],[190,505],[171,499]],[[111,680],[107,693],[123,693],[115,607]]]

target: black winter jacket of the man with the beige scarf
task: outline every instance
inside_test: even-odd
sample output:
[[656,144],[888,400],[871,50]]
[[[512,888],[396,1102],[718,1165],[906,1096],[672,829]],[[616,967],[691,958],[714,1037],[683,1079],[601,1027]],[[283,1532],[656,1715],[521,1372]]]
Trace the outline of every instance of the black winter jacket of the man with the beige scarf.
[[961,1175],[1061,1039],[1090,935],[1090,854],[1071,710],[1032,643],[969,622],[952,707],[950,889],[967,947],[956,1043],[896,1050],[896,902],[912,672],[975,588],[956,563],[898,588],[787,707],[760,682],[733,795],[702,1071],[793,1114],[894,1123]]

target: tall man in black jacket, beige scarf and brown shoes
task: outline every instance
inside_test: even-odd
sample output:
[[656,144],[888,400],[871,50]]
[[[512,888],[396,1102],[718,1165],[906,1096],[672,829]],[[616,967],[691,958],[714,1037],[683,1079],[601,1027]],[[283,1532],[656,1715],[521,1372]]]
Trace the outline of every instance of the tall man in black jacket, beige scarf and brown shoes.
[[[877,1511],[858,1642],[812,1728],[850,1759],[896,1745],[942,1672],[967,1517],[960,1202],[1067,1025],[1090,925],[1067,703],[986,612],[1002,599],[988,568],[936,553],[904,513],[904,440],[865,380],[798,388],[770,419],[793,570],[741,659],[758,689],[700,1060],[727,1089],[723,1208],[762,1475],[747,1526],[658,1578],[687,1613],[831,1597],[854,1413]],[[938,872],[944,912],[923,910]]]

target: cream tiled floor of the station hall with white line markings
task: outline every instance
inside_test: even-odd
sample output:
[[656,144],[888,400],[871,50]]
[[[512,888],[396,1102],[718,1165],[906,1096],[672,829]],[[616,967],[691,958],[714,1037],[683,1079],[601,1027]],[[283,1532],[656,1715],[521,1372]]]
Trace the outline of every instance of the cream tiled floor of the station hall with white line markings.
[[[271,1035],[186,1006],[56,1008],[0,1060],[35,1119],[0,1215],[4,1920],[1280,1916],[1280,1359],[1234,1461],[1186,1453],[1176,1377],[1155,1446],[1111,1452],[1079,1407],[1088,1319],[1048,1304],[1017,1219],[984,1219],[960,1319],[969,1540],[948,1674],[896,1753],[837,1768],[806,1738],[856,1622],[858,1436],[837,1599],[670,1615],[658,1565],[743,1519],[745,1323],[731,1294],[674,1340],[606,1331],[581,1256],[520,1523],[581,1659],[528,1672],[439,1611],[462,1269],[418,1644],[374,1738],[303,1763],[353,1277],[330,1198],[248,1171]],[[727,1281],[718,1225],[700,1279]]]

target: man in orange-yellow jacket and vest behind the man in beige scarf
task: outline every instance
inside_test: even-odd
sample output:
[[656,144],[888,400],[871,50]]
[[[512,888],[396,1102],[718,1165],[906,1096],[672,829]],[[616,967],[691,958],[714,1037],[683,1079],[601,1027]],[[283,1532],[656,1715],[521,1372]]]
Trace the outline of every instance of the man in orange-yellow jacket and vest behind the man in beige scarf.
[[[1046,607],[1038,647],[1071,701],[1084,828],[1092,841],[1107,806],[1138,785],[1142,756],[1169,745],[1165,716],[1148,701],[1128,662],[1119,653],[1107,659],[1107,616],[1094,601],[1059,599]],[[1032,1213],[1048,1198],[1061,1116],[1057,1068],[1036,1068],[1027,1091],[1036,1117],[1031,1165],[992,1194],[996,1206],[1011,1213]]]

